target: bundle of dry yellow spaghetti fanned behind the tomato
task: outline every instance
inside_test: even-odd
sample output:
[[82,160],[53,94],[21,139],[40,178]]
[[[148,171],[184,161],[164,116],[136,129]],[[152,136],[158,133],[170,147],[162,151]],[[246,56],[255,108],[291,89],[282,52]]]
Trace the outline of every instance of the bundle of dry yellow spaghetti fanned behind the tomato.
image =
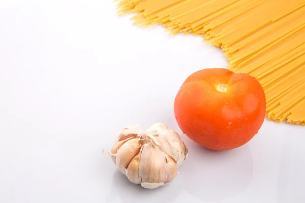
[[305,125],[305,0],[120,0],[118,8],[136,25],[220,47],[228,69],[261,83],[269,119]]

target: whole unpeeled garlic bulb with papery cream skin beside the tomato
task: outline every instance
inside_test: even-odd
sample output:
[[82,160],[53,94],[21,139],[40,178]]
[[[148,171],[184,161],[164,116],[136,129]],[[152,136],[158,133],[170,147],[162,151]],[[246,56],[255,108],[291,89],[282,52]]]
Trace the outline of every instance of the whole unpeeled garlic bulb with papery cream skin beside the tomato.
[[177,132],[162,123],[144,131],[139,125],[131,125],[119,134],[110,155],[132,183],[157,188],[175,178],[188,148]]

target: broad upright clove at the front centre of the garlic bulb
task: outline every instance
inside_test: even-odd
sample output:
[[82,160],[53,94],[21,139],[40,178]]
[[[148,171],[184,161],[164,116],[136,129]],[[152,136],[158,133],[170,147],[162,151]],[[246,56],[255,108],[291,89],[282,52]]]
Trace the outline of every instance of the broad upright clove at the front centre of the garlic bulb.
[[168,174],[165,155],[153,143],[143,146],[139,165],[139,176],[142,179],[142,183],[145,183],[144,185],[148,183],[152,184],[149,188],[156,187],[156,183],[164,184],[167,182]]

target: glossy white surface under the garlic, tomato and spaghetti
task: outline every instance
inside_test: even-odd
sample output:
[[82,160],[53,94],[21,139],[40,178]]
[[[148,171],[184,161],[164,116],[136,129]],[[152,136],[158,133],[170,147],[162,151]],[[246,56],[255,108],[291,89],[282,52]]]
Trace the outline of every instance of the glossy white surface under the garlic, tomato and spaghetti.
[[110,150],[130,124],[181,131],[173,99],[191,73],[225,67],[200,37],[132,26],[106,0],[0,3],[0,202],[304,202],[305,128],[266,121],[247,145],[189,158],[147,190]]

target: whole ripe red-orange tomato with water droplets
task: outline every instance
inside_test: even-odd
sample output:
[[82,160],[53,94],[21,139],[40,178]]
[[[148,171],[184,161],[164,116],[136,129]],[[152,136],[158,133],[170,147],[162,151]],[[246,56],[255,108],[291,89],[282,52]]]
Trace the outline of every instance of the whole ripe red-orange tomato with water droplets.
[[229,150],[249,142],[266,112],[265,93],[248,74],[227,69],[193,73],[180,87],[174,113],[180,129],[212,150]]

